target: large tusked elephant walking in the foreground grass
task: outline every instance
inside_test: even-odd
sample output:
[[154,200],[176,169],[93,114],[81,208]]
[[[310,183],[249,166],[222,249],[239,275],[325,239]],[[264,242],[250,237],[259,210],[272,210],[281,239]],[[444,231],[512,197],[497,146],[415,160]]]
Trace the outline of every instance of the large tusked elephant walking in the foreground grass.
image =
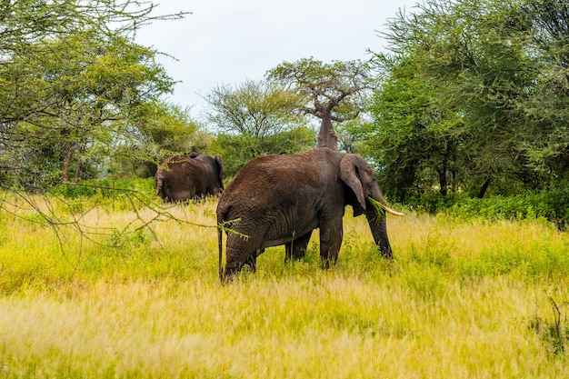
[[383,210],[402,214],[385,204],[374,169],[360,155],[322,147],[256,157],[235,175],[217,204],[217,223],[230,229],[225,269],[219,230],[220,279],[239,273],[244,264],[255,271],[256,257],[265,247],[284,244],[285,260],[302,258],[316,228],[320,228],[321,264],[325,268],[335,264],[348,204],[354,215],[365,214],[375,244],[384,257],[392,258]]

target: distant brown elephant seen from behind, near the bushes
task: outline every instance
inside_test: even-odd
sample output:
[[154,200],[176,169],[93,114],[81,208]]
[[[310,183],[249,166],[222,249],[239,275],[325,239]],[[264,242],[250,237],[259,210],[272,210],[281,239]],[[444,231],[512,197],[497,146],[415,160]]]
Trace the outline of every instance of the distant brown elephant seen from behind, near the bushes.
[[167,203],[218,196],[224,190],[223,160],[202,153],[171,156],[156,171],[155,183],[156,195]]

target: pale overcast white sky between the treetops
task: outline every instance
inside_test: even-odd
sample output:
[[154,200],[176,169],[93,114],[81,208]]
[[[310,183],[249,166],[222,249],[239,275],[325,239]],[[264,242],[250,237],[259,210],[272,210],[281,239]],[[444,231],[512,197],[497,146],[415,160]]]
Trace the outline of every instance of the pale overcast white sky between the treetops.
[[180,81],[170,101],[192,106],[198,116],[202,96],[218,85],[258,80],[276,65],[314,57],[333,60],[368,59],[367,50],[381,52],[385,23],[398,9],[414,12],[417,0],[155,0],[157,14],[192,12],[178,21],[146,26],[141,45],[173,58],[159,62]]

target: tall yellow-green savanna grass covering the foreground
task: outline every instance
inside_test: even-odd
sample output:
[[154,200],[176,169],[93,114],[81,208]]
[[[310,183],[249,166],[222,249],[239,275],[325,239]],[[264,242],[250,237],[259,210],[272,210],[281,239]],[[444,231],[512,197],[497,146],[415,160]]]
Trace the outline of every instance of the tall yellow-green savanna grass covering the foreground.
[[332,269],[314,233],[221,285],[215,204],[138,231],[150,209],[77,204],[89,234],[2,212],[0,377],[569,376],[569,237],[543,220],[388,215],[386,262],[348,208]]

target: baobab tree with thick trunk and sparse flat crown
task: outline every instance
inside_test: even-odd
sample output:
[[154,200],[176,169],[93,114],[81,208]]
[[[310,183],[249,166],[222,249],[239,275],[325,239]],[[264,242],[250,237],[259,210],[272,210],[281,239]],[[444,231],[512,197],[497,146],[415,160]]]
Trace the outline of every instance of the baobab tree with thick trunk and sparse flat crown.
[[322,120],[317,146],[338,147],[332,122],[353,120],[364,111],[373,89],[369,65],[359,60],[324,64],[313,58],[284,62],[266,77],[301,96],[301,112]]

